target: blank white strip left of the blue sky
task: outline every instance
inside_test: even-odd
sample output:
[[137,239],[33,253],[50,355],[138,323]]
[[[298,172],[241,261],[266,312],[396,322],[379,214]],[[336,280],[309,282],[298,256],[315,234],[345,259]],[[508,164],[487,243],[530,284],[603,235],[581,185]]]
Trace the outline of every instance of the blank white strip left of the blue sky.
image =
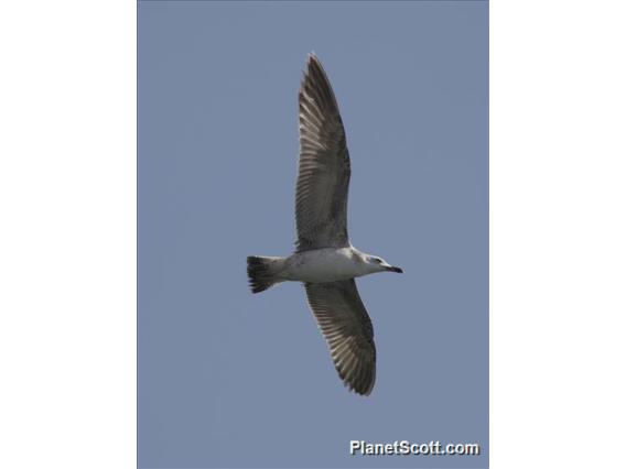
[[136,466],[136,4],[0,13],[0,467]]

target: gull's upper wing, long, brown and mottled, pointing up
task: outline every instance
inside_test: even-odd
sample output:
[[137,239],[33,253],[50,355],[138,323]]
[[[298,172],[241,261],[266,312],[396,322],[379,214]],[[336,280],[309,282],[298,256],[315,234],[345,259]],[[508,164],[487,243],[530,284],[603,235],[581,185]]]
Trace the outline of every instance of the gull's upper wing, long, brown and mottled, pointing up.
[[299,102],[296,250],[344,248],[350,161],[337,101],[315,55],[309,56]]

